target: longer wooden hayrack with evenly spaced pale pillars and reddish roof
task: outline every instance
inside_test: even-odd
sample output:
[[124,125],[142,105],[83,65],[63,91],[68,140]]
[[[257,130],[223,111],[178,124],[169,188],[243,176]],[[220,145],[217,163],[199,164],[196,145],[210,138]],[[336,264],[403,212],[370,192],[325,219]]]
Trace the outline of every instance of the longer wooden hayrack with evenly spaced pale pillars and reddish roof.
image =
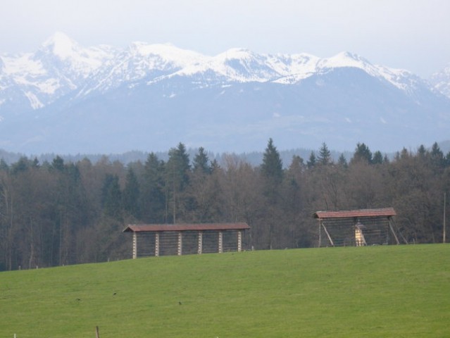
[[246,223],[128,225],[132,232],[132,258],[192,253],[242,251]]

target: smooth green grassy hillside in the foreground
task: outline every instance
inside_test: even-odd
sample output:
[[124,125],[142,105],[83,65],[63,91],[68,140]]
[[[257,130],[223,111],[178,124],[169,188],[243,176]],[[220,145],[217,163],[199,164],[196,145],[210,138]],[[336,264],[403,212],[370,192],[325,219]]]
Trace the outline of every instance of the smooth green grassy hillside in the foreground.
[[445,337],[450,245],[171,256],[0,273],[0,337]]

